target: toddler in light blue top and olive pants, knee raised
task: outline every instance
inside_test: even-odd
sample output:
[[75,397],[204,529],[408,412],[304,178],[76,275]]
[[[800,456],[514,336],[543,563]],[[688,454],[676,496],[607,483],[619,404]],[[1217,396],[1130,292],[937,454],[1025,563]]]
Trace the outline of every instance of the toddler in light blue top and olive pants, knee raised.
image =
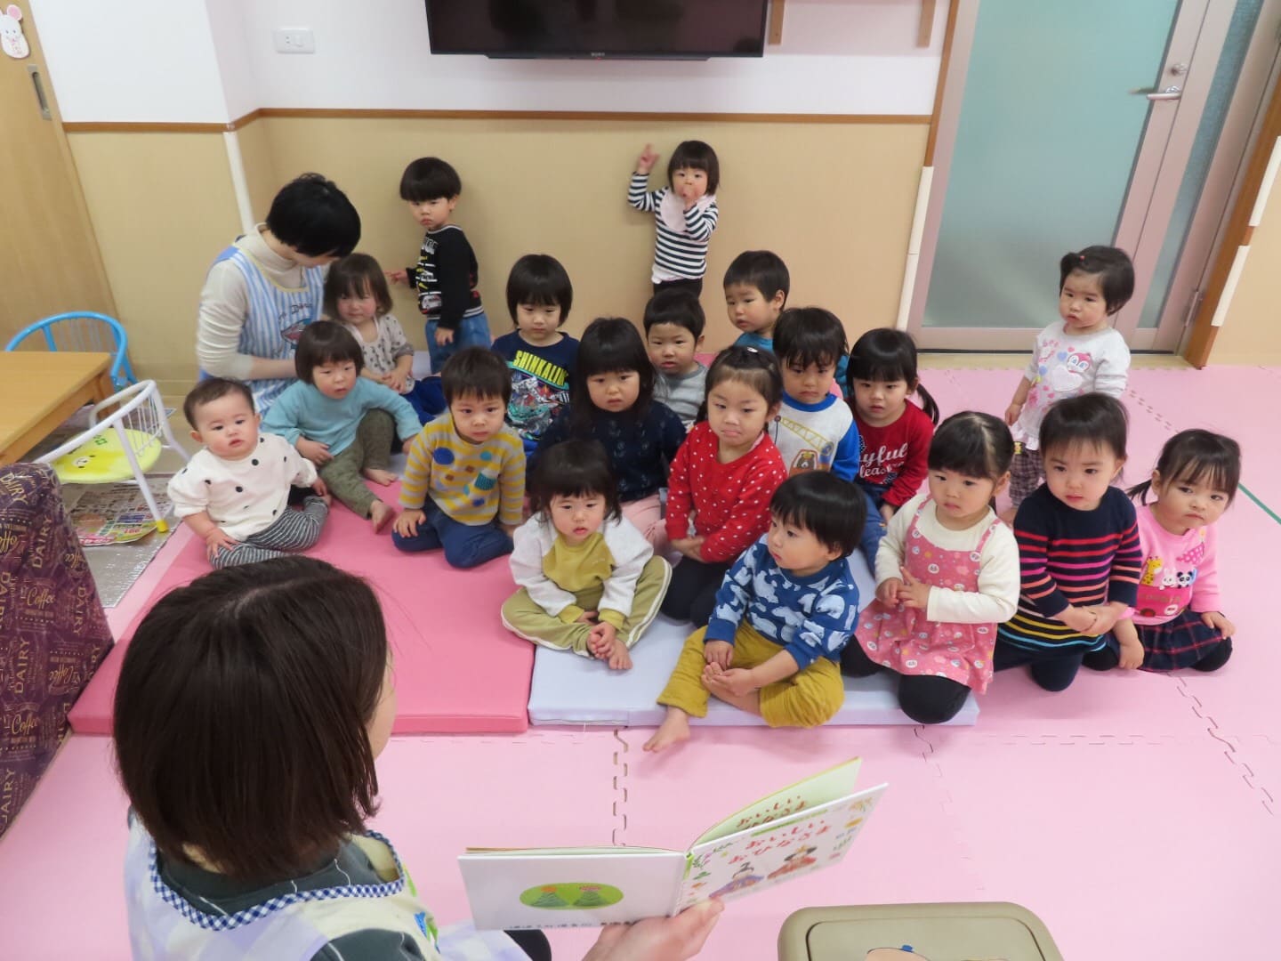
[[418,414],[393,390],[360,375],[364,351],[332,320],[302,332],[295,361],[298,382],[272,405],[263,428],[297,447],[334,497],[382,530],[396,511],[361,478],[383,486],[396,479],[387,470],[392,442],[398,437],[409,447]]

